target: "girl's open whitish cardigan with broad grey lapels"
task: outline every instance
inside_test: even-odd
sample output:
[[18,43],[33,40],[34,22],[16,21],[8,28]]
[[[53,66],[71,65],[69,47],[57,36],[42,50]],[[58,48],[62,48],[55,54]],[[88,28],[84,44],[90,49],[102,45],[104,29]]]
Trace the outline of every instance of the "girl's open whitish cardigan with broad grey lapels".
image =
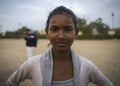
[[[88,59],[71,50],[74,86],[113,86],[108,78]],[[31,79],[33,86],[51,86],[53,74],[52,49],[44,54],[26,60],[7,80],[6,86],[19,86],[25,79]]]

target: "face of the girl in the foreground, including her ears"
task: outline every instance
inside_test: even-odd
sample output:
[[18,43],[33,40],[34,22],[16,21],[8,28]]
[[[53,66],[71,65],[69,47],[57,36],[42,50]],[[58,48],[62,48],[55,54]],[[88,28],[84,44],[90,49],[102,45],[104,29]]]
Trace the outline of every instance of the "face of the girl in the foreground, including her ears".
[[54,15],[46,33],[55,51],[69,50],[77,35],[72,18],[65,14]]

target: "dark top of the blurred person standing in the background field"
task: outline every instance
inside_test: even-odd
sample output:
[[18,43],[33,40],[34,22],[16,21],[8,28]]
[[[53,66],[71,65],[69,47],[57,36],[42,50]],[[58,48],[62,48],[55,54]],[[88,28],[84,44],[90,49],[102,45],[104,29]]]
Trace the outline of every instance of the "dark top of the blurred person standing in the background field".
[[24,39],[26,40],[27,47],[36,47],[37,46],[37,37],[34,34],[25,35]]

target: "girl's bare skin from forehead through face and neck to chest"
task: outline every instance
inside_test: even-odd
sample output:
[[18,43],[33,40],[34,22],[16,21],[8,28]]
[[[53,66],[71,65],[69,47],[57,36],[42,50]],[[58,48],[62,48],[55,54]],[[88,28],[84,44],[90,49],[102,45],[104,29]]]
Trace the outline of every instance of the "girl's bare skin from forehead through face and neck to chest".
[[65,14],[54,15],[50,19],[46,33],[53,49],[53,81],[73,78],[73,62],[70,48],[77,31],[72,18]]

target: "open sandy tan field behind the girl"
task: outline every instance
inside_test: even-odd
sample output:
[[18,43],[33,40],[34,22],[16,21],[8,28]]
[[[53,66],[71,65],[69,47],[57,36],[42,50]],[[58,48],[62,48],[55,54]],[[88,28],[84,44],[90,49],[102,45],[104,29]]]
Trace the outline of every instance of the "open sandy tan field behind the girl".
[[[48,40],[39,40],[34,55],[46,51],[48,43]],[[95,63],[115,86],[120,86],[120,40],[77,40],[72,48]],[[0,39],[0,86],[5,86],[8,77],[25,60],[27,55],[23,39]],[[27,80],[20,86],[32,85]]]

